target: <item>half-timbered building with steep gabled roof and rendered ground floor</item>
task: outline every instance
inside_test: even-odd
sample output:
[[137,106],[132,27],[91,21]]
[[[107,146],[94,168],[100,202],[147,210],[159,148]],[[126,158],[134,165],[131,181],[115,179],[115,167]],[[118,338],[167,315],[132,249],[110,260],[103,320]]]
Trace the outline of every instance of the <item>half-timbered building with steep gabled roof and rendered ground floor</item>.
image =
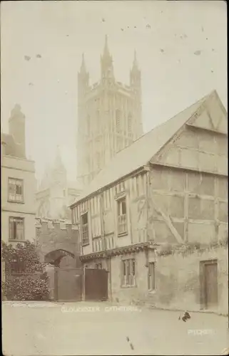
[[[228,281],[226,253],[223,260],[215,252],[205,253],[206,261],[195,256],[196,273],[193,264],[182,271],[182,258],[176,267],[175,257],[161,260],[168,246],[228,241],[226,115],[218,94],[210,93],[119,152],[71,206],[81,261],[106,268],[111,299],[179,305],[178,281],[192,281],[193,310],[220,308],[227,298],[221,288]],[[205,278],[212,278],[203,282],[209,290],[200,286],[200,263]]]

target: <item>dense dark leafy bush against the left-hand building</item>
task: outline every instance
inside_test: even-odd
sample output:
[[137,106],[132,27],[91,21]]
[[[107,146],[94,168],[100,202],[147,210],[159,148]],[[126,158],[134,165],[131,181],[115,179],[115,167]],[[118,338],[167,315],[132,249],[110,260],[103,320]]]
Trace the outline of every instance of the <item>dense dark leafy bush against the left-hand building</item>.
[[2,243],[6,281],[2,284],[3,295],[8,300],[43,300],[49,294],[49,280],[45,264],[39,261],[36,244]]

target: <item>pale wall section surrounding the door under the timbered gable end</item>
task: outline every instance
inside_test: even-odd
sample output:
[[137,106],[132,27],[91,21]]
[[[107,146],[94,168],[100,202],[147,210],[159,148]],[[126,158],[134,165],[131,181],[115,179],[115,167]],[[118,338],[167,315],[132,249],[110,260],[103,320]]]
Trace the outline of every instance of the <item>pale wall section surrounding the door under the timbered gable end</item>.
[[156,291],[147,302],[160,308],[201,310],[200,262],[218,261],[218,307],[228,314],[228,247],[200,249],[156,258]]

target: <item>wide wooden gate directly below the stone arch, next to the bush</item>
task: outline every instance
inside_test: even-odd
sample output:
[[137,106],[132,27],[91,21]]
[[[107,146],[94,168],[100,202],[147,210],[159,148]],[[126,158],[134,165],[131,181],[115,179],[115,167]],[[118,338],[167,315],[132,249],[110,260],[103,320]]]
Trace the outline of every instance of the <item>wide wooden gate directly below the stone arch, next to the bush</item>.
[[81,300],[83,270],[80,268],[55,268],[55,300],[71,302]]

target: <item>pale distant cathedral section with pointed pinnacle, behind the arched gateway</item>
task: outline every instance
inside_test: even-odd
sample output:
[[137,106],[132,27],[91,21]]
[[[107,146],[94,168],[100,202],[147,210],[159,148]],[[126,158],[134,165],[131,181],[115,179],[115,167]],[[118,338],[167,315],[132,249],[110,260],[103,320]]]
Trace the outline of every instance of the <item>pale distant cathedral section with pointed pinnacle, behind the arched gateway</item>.
[[66,168],[57,147],[54,166],[46,170],[36,192],[36,216],[71,220],[71,210],[68,206],[80,194],[79,186],[67,180]]

